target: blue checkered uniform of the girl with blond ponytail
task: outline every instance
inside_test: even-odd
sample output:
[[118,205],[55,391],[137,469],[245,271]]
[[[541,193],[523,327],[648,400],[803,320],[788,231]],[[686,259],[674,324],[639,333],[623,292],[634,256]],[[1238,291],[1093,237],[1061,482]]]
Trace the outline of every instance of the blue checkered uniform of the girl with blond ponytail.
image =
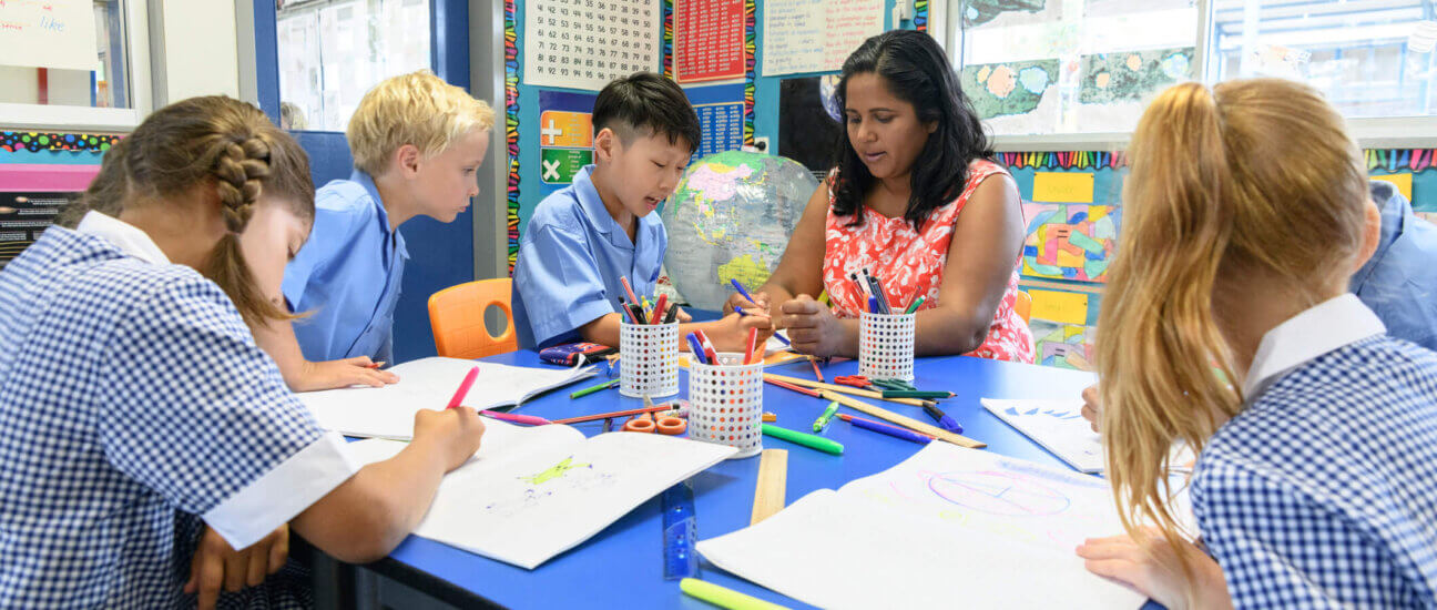
[[1277,377],[1198,459],[1236,607],[1437,607],[1437,352],[1385,335]]

